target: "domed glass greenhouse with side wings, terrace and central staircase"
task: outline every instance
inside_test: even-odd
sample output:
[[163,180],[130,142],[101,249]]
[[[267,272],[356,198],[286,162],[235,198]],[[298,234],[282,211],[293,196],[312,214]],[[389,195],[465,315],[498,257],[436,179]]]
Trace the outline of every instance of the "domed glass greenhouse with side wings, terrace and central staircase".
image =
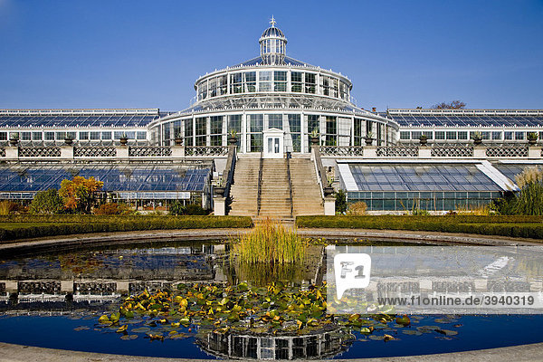
[[343,189],[375,213],[444,213],[543,163],[543,110],[364,110],[346,75],[288,55],[274,19],[258,49],[198,78],[186,110],[0,110],[0,198],[94,176],[144,209],[334,214]]

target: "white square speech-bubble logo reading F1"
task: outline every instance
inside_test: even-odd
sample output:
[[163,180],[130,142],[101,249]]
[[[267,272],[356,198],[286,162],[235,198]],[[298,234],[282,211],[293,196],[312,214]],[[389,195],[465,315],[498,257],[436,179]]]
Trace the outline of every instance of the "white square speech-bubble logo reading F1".
[[363,289],[369,285],[371,258],[365,253],[341,253],[334,256],[336,293],[338,300],[348,289]]

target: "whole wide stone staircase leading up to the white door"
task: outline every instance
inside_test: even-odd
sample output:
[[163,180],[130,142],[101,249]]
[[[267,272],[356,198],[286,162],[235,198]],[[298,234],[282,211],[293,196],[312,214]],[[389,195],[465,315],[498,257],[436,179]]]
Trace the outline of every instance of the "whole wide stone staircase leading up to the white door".
[[260,158],[238,158],[233,173],[230,215],[290,219],[300,214],[324,214],[315,167],[310,158],[291,158],[291,194],[287,160],[262,160],[261,208],[258,212]]

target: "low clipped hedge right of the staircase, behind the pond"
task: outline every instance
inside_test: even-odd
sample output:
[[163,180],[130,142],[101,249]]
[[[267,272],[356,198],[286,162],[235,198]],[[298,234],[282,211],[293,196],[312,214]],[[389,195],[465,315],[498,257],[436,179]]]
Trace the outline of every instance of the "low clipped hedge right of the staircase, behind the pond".
[[299,227],[480,233],[543,239],[541,216],[298,216]]

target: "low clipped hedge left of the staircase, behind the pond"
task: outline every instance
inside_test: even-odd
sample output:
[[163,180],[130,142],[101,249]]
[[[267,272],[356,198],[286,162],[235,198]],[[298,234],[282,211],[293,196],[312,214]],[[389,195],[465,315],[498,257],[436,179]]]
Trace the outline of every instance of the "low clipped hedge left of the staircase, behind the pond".
[[[75,216],[75,215],[74,215]],[[81,215],[84,216],[84,215]],[[72,233],[110,233],[138,230],[171,230],[171,229],[208,229],[208,228],[241,228],[251,227],[251,217],[245,216],[105,216],[101,220],[90,216],[87,223],[60,223],[61,219],[51,216],[51,224],[43,226],[2,229],[0,224],[0,241],[27,239],[53,235],[69,235]],[[66,218],[65,220],[70,220]],[[1,222],[1,220],[0,220]],[[10,220],[10,222],[15,222]],[[18,219],[16,222],[21,222]],[[33,223],[37,221],[33,219]]]

